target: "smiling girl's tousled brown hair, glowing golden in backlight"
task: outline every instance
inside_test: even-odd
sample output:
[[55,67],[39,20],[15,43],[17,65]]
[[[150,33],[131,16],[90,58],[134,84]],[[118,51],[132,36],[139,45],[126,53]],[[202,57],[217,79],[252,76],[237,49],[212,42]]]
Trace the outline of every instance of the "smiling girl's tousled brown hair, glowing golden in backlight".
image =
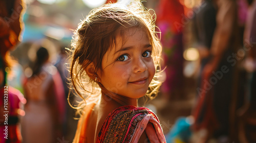
[[[71,48],[70,80],[76,93],[84,101],[95,101],[95,98],[100,95],[100,86],[93,81],[97,75],[89,78],[85,70],[86,67],[93,63],[95,73],[101,73],[104,54],[113,48],[115,37],[118,34],[122,35],[120,29],[129,28],[139,28],[145,31],[153,46],[152,57],[157,73],[148,87],[146,95],[150,99],[155,97],[154,95],[157,94],[161,85],[157,78],[161,70],[162,47],[155,32],[155,19],[152,17],[149,10],[140,2],[129,6],[115,3],[93,9],[86,19],[79,23],[74,32]],[[83,106],[78,107],[83,108]]]

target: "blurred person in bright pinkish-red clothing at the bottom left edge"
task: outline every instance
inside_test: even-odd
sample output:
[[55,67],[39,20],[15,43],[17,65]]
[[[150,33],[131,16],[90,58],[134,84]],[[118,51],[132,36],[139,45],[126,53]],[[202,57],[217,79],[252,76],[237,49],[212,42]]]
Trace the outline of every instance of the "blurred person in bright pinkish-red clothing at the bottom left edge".
[[22,142],[19,116],[24,115],[22,104],[26,103],[23,94],[6,83],[6,64],[0,56],[0,142]]

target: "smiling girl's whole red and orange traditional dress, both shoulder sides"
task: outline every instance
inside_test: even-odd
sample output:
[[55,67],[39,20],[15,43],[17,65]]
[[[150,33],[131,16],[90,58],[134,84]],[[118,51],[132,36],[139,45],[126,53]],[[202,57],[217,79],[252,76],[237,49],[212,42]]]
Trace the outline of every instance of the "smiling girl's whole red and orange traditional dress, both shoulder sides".
[[[87,142],[87,122],[94,105],[90,104],[84,109],[84,114],[78,122],[74,143]],[[159,120],[150,109],[122,106],[108,115],[96,142],[138,142],[144,131],[150,142],[166,142]]]

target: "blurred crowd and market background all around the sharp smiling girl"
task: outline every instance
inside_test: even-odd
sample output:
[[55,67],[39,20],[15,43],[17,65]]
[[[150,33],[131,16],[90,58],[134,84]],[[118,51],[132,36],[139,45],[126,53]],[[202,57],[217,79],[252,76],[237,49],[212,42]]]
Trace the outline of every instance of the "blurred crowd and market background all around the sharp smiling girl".
[[[0,0],[0,114],[8,114],[0,143],[74,138],[79,116],[70,104],[79,101],[66,47],[92,7],[42,2]],[[164,82],[155,100],[139,103],[158,114],[166,141],[256,142],[256,1],[143,4],[157,15]]]

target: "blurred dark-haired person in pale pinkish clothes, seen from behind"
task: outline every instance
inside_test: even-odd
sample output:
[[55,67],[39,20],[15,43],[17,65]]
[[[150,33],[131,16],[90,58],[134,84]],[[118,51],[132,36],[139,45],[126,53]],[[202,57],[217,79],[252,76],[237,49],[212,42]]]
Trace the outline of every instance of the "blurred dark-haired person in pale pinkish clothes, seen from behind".
[[24,142],[56,142],[62,137],[65,93],[58,70],[45,47],[36,52],[33,74],[24,81],[27,99],[22,119]]

